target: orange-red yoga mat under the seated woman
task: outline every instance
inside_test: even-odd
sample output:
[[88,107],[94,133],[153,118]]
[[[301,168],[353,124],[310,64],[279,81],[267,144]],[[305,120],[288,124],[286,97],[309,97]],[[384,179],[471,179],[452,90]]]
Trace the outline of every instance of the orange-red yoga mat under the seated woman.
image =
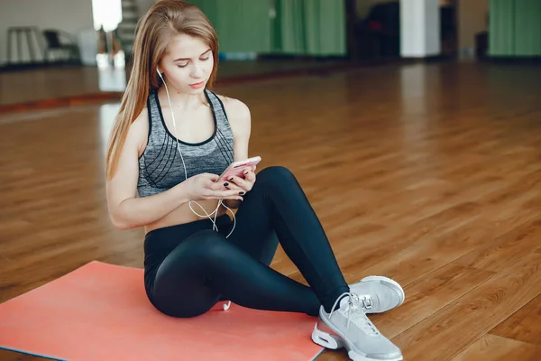
[[313,360],[307,315],[222,303],[176,319],[147,300],[142,269],[93,261],[0,304],[0,347],[61,360]]

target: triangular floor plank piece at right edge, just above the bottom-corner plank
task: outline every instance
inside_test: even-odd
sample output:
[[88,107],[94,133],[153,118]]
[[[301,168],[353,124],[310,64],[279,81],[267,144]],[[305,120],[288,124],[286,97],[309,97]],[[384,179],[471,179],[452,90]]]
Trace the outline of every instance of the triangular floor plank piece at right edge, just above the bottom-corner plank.
[[490,333],[541,346],[541,294],[501,322]]

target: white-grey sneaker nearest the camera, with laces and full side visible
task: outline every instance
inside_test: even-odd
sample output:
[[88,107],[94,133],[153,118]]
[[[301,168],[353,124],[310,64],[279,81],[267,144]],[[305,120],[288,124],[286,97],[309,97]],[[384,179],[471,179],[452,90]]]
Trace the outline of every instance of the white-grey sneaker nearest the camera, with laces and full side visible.
[[[402,361],[402,353],[381,335],[362,310],[362,301],[352,292],[344,293],[340,306],[327,313],[319,309],[312,340],[322,347],[345,347],[353,361]],[[340,299],[339,299],[340,300]]]

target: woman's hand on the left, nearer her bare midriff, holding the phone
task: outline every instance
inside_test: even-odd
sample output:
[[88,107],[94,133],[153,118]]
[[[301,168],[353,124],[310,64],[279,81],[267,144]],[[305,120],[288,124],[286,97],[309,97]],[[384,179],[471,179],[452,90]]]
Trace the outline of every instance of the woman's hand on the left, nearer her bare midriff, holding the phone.
[[227,189],[224,183],[216,182],[220,176],[216,174],[197,174],[183,181],[189,200],[234,199],[243,200],[239,190]]

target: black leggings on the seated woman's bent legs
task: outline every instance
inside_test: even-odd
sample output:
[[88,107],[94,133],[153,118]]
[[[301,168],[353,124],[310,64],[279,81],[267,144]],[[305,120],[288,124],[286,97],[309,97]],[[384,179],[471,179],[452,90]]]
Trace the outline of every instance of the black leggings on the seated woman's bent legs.
[[[349,286],[326,234],[293,174],[260,171],[233,221],[208,219],[152,230],[145,237],[145,289],[174,317],[194,317],[228,300],[257,310],[330,311]],[[310,287],[271,269],[278,242]]]

